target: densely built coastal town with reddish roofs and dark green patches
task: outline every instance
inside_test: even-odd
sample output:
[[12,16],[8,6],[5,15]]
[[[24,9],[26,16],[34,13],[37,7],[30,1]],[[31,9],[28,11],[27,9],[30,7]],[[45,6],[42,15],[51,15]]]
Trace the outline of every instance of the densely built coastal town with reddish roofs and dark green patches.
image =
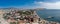
[[35,10],[0,10],[0,24],[60,24],[40,18]]

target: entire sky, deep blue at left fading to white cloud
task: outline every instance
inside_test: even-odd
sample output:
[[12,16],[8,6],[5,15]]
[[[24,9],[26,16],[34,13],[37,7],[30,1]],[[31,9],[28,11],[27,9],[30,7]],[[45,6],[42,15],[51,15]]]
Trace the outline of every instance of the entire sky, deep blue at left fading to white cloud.
[[60,9],[60,0],[0,0],[0,8]]

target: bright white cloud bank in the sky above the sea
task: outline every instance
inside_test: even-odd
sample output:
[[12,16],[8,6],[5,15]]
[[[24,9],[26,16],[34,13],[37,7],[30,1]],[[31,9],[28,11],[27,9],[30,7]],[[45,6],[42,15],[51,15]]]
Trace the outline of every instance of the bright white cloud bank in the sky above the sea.
[[60,9],[60,2],[35,2],[35,4],[39,5],[37,7],[47,8],[47,9]]

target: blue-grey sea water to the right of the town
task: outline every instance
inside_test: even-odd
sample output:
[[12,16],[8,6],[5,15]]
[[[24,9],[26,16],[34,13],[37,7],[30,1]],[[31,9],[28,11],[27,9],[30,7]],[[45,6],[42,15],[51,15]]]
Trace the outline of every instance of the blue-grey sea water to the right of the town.
[[[51,10],[51,9],[38,10],[37,14],[42,19],[45,19],[45,20],[48,20],[48,21],[60,22],[60,10]],[[47,19],[49,16],[52,16],[54,18]]]

